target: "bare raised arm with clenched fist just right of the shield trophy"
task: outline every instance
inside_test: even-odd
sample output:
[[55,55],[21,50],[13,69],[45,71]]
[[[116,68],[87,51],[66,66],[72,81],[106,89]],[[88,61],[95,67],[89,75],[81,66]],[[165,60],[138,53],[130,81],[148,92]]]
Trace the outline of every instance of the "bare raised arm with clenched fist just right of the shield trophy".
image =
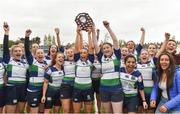
[[103,21],[103,24],[104,24],[104,27],[108,30],[108,32],[109,32],[109,34],[110,34],[110,36],[112,38],[114,48],[118,49],[119,48],[118,40],[117,40],[116,35],[112,31],[109,22],[108,21]]

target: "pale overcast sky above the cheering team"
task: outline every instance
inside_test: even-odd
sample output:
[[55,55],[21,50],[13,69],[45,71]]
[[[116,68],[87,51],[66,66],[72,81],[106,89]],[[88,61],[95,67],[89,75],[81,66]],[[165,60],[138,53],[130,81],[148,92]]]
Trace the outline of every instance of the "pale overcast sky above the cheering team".
[[179,0],[0,0],[0,24],[9,23],[10,39],[14,40],[23,37],[27,28],[32,29],[32,37],[43,39],[59,27],[62,42],[67,43],[75,40],[75,16],[87,12],[100,29],[101,40],[107,32],[102,21],[108,20],[118,39],[138,43],[143,26],[145,42],[160,42],[165,32],[179,39],[179,11]]

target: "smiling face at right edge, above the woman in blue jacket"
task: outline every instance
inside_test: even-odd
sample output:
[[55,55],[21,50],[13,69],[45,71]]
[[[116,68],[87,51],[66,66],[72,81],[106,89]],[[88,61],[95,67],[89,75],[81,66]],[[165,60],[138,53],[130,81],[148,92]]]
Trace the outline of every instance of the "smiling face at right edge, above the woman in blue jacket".
[[176,51],[176,47],[177,47],[176,42],[173,40],[170,40],[170,41],[168,41],[168,43],[166,45],[166,51],[169,53],[174,53]]

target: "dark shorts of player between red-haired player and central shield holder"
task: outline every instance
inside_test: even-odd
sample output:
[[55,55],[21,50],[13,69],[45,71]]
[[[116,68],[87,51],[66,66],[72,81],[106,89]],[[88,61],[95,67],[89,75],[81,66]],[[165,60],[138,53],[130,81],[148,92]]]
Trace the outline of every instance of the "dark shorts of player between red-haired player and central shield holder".
[[62,84],[60,88],[61,99],[71,99],[73,93],[73,86],[70,84]]

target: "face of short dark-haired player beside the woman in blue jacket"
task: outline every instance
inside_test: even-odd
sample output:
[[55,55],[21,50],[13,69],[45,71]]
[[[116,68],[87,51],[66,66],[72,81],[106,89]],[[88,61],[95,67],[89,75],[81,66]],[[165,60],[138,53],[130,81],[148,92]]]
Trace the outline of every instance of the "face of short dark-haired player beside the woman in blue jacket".
[[131,73],[136,67],[136,59],[134,57],[128,57],[125,60],[125,67],[128,73]]

